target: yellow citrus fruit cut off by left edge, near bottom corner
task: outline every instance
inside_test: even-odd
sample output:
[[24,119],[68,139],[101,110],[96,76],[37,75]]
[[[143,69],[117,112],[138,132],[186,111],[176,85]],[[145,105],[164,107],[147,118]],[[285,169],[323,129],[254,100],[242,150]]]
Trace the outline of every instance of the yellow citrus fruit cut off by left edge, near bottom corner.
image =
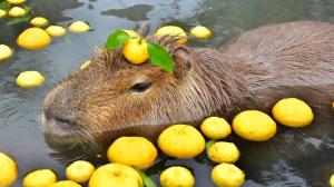
[[10,186],[18,177],[18,167],[16,161],[0,152],[0,186]]

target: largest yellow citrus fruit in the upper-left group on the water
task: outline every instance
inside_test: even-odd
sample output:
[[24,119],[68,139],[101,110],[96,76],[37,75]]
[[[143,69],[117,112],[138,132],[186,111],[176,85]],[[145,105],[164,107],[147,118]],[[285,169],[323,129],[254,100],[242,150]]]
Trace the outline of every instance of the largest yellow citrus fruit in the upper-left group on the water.
[[39,50],[49,46],[51,37],[40,28],[26,29],[17,39],[19,47],[28,50]]

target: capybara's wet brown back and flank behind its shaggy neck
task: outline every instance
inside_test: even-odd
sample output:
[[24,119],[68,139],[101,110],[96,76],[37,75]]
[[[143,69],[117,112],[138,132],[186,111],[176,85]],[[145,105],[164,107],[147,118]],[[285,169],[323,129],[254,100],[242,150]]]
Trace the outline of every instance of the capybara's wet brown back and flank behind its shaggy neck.
[[334,100],[333,24],[265,26],[222,50],[243,61],[240,71],[250,83],[247,90],[253,107],[268,109],[283,97],[303,98],[314,107],[328,107]]

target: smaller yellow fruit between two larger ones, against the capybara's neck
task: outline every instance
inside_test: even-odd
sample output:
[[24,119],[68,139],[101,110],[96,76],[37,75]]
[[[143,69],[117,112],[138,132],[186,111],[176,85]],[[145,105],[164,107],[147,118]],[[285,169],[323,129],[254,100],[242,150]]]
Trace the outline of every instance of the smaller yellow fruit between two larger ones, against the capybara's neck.
[[229,124],[219,117],[206,118],[200,126],[200,130],[205,136],[212,139],[226,138],[232,132]]

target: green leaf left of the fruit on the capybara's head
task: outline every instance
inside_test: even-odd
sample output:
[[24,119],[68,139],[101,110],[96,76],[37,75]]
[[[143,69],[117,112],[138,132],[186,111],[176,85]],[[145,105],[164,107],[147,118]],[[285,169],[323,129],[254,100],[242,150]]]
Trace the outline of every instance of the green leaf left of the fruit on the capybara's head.
[[130,36],[126,31],[117,30],[109,35],[107,42],[105,43],[105,48],[108,50],[116,49],[124,45],[129,38]]

